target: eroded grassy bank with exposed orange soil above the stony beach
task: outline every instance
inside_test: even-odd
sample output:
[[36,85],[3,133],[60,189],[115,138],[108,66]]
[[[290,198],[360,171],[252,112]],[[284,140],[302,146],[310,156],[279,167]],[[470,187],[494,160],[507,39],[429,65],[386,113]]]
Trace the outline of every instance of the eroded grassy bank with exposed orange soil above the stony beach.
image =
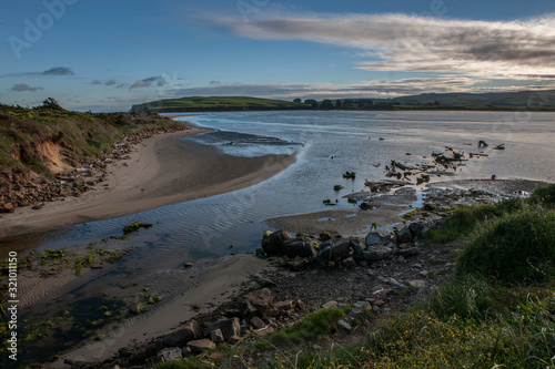
[[52,156],[74,167],[125,135],[182,125],[154,112],[70,112],[52,99],[32,109],[0,104],[0,191],[32,175],[51,177]]

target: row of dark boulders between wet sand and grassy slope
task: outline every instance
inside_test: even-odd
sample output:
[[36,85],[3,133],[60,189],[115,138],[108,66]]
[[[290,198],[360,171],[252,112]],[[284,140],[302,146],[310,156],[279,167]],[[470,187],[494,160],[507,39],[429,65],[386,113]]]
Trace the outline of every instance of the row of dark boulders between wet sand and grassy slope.
[[[354,267],[367,266],[387,259],[404,260],[420,254],[418,238],[425,238],[430,230],[440,225],[438,222],[413,222],[401,229],[390,232],[379,229],[365,236],[329,234],[324,237],[293,237],[289,232],[266,230],[262,237],[262,249],[256,252],[261,257],[279,256],[280,264],[294,271],[309,265],[317,267]],[[329,239],[326,239],[329,238]]]

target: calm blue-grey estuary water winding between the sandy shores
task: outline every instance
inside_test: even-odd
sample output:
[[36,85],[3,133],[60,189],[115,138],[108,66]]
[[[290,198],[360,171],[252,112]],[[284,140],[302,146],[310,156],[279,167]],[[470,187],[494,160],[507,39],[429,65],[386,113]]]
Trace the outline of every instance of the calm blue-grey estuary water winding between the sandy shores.
[[[176,117],[212,132],[186,137],[238,156],[295,154],[295,164],[258,185],[141,214],[47,233],[34,247],[62,248],[121,235],[124,225],[151,223],[129,244],[139,248],[122,267],[142,273],[183,260],[243,254],[260,247],[264,219],[323,211],[323,199],[353,207],[344,195],[364,180],[384,177],[392,160],[432,163],[445,146],[487,157],[470,161],[455,178],[555,182],[555,113],[508,112],[241,112]],[[484,140],[487,148],[478,148]],[[505,144],[506,150],[492,147]],[[356,180],[344,180],[345,172]],[[345,188],[340,193],[334,185]],[[144,260],[148,259],[148,263]],[[138,270],[139,270],[138,269]]]

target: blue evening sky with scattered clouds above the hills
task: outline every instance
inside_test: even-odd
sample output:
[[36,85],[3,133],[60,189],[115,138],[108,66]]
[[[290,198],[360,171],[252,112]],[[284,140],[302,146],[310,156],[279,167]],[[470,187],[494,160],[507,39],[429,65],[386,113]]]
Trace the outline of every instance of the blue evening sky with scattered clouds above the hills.
[[7,0],[0,102],[555,89],[555,1]]

